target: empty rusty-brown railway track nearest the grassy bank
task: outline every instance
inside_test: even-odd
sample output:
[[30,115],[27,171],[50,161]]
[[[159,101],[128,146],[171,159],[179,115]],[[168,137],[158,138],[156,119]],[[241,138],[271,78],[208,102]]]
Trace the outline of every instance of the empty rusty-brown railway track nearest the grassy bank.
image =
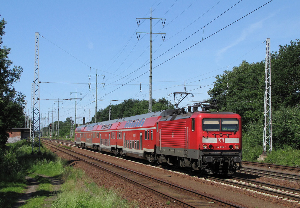
[[50,144],[49,142],[45,142],[45,144],[57,150],[63,151],[64,153],[67,153],[73,157],[76,157],[90,165],[101,168],[102,170],[120,177],[123,180],[128,180],[187,207],[240,207],[238,205],[231,204],[226,201],[199,192],[195,192],[190,189],[185,189],[175,184],[168,183],[166,181],[156,179],[154,177],[150,177],[145,174],[120,167],[118,165],[101,161],[82,153],[74,152],[64,147],[55,146],[54,144]]

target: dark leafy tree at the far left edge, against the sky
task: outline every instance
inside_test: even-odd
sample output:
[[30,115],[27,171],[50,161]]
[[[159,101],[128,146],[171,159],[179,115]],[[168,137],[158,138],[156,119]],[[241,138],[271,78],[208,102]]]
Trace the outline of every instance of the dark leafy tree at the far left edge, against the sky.
[[23,69],[14,66],[8,59],[10,48],[2,46],[6,21],[0,20],[0,148],[7,143],[7,130],[23,127],[25,116],[23,111],[25,95],[17,92],[13,83],[20,80]]

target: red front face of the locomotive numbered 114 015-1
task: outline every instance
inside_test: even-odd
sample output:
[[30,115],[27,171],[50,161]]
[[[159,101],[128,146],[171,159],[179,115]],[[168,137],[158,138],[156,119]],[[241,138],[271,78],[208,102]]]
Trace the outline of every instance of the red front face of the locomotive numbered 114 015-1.
[[233,174],[241,167],[241,117],[211,112],[203,115],[201,125],[199,168],[207,174]]

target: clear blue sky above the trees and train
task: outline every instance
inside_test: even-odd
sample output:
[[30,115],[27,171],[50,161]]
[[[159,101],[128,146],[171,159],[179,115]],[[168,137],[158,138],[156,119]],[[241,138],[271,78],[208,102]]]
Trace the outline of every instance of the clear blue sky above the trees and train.
[[[142,19],[138,26],[136,18],[149,18],[152,7],[152,18],[166,19],[164,26],[152,19],[152,32],[166,33],[164,41],[160,34],[152,34],[152,98],[165,97],[173,103],[173,96],[168,95],[184,92],[185,81],[186,92],[195,97],[185,98],[181,107],[209,98],[207,91],[213,87],[214,77],[224,70],[243,60],[264,60],[266,38],[271,39],[271,51],[299,38],[300,1],[266,4],[268,1],[2,0],[0,15],[7,21],[3,45],[11,48],[13,64],[23,68],[21,80],[14,86],[26,95],[30,112],[35,32],[39,32],[41,114],[49,115],[50,123],[48,113],[58,105],[54,102],[75,98],[70,92],[76,91],[81,93],[77,94],[81,98],[77,117],[89,121],[95,114],[96,85],[91,84],[90,90],[88,83],[95,83],[96,76],[88,75],[96,70],[105,75],[104,79],[98,76],[98,82],[105,83],[104,87],[98,84],[98,109],[111,100],[118,104],[129,98],[149,99],[150,35],[141,34],[137,40],[136,33],[149,32],[150,20]],[[74,120],[75,99],[59,105],[63,106],[59,120]],[[55,108],[53,120],[58,119]]]

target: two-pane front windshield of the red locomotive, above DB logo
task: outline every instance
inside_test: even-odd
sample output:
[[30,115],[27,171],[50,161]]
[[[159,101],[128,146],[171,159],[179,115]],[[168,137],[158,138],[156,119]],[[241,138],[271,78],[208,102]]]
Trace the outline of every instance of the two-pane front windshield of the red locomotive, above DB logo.
[[237,131],[238,120],[230,118],[204,118],[202,120],[203,131]]

